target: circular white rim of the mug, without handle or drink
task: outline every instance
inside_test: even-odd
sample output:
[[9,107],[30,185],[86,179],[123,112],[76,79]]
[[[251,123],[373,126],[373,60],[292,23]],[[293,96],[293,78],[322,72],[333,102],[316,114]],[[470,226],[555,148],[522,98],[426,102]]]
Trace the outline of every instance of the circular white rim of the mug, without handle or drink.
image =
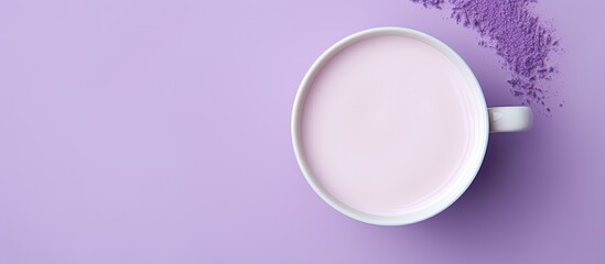
[[[380,35],[403,35],[408,37],[413,37],[414,40],[422,41],[435,48],[437,48],[440,52],[442,52],[445,56],[447,56],[458,68],[461,74],[465,77],[465,79],[468,81],[472,97],[474,98],[473,101],[475,102],[474,107],[476,108],[477,112],[477,125],[476,129],[476,135],[477,140],[475,142],[474,146],[474,153],[472,153],[472,161],[471,165],[466,169],[466,174],[463,176],[457,176],[461,179],[458,180],[458,185],[453,185],[451,189],[443,193],[446,193],[439,199],[437,202],[434,202],[433,205],[430,205],[424,210],[413,211],[413,212],[407,212],[398,216],[377,216],[371,215],[363,211],[358,211],[356,209],[353,209],[336,198],[332,197],[326,190],[324,190],[321,185],[315,180],[315,177],[312,175],[310,170],[310,166],[306,162],[304,151],[302,150],[302,133],[301,133],[301,117],[302,111],[304,107],[304,101],[306,99],[306,94],[309,91],[309,87],[314,80],[315,75],[321,72],[323,65],[325,65],[335,54],[341,52],[342,50],[346,48],[347,46],[361,41],[366,40],[372,36],[380,36]],[[354,33],[349,36],[346,36],[345,38],[336,42],[333,44],[329,48],[327,48],[309,68],[306,72],[303,80],[301,81],[293,108],[292,108],[292,119],[291,119],[291,136],[292,136],[292,144],[294,147],[294,154],[298,161],[298,164],[301,168],[301,172],[303,173],[306,182],[312,187],[312,189],[325,202],[327,202],[332,208],[339,211],[343,215],[346,215],[353,219],[356,219],[361,222],[376,224],[376,226],[403,226],[403,224],[410,224],[415,223],[425,219],[429,219],[439,212],[445,210],[447,207],[450,207],[454,201],[456,201],[462,194],[468,188],[468,186],[474,180],[475,176],[477,175],[479,167],[483,163],[485,152],[487,150],[487,141],[489,135],[489,122],[488,122],[488,114],[487,114],[487,105],[485,101],[485,97],[483,95],[482,88],[479,86],[479,82],[477,81],[475,75],[464,62],[464,59],[454,52],[450,46],[444,44],[443,42],[439,41],[437,38],[417,31],[412,29],[407,28],[399,28],[399,26],[383,26],[383,28],[374,28],[364,30],[357,33]],[[462,174],[462,173],[461,173]]]

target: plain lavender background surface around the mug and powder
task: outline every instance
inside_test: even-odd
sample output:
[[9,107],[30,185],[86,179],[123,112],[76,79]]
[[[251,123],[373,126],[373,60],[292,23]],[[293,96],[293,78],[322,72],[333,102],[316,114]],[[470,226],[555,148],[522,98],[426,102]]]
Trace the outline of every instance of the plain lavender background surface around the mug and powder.
[[490,136],[452,207],[409,227],[344,217],[290,141],[298,85],[359,30],[432,34],[489,106],[508,73],[407,0],[0,1],[0,263],[603,263],[605,16],[540,1],[564,107]]

